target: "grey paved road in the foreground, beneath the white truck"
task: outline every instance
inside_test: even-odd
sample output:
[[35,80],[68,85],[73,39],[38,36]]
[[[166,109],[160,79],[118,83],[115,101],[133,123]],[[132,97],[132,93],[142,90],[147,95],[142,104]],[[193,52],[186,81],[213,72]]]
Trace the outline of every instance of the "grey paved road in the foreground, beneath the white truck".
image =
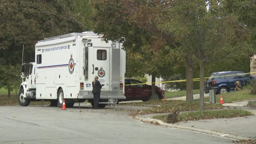
[[[0,107],[1,144],[231,144],[225,137],[144,123],[129,107],[61,110],[48,106]],[[133,107],[133,109],[137,109]]]

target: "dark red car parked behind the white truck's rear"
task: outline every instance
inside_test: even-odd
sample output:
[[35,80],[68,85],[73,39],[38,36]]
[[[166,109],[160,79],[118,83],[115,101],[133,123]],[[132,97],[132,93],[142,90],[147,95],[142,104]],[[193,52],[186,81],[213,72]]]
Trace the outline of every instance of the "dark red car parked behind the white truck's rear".
[[[152,86],[143,84],[143,82],[137,79],[125,79],[124,80],[124,96],[126,99],[115,99],[118,104],[120,101],[129,100],[142,100],[147,101],[152,98]],[[138,84],[138,85],[131,85]],[[164,98],[164,91],[162,88],[156,86],[156,99]]]

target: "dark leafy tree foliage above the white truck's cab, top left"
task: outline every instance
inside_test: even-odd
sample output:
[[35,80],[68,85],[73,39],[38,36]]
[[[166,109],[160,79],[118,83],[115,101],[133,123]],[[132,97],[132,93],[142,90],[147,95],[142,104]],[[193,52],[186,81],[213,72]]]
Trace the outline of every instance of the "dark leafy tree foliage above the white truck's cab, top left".
[[68,32],[81,31],[83,24],[71,13],[72,1],[66,0],[1,0],[0,2],[0,64],[21,63],[34,58],[37,40]]

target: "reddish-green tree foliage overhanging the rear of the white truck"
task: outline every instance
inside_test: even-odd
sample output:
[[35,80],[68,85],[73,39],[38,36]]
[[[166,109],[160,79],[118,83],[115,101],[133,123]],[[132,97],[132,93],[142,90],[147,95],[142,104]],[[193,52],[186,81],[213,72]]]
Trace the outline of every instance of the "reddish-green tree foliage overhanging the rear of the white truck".
[[161,9],[155,4],[146,0],[141,3],[136,0],[93,2],[94,31],[104,33],[105,39],[125,37],[126,77],[145,73],[160,77],[166,66],[171,65],[166,62],[170,58],[166,57],[169,52],[164,46],[172,41],[172,37],[157,28],[154,19],[155,15],[161,14]]

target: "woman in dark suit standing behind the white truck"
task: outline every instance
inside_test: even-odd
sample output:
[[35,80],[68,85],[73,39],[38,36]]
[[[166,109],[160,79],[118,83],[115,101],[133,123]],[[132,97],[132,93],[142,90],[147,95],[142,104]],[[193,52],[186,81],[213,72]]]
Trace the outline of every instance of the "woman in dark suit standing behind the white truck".
[[100,89],[101,89],[101,84],[98,81],[99,77],[95,76],[92,82],[93,85],[93,99],[94,99],[94,109],[98,109],[98,105],[99,105],[99,99],[100,99]]

